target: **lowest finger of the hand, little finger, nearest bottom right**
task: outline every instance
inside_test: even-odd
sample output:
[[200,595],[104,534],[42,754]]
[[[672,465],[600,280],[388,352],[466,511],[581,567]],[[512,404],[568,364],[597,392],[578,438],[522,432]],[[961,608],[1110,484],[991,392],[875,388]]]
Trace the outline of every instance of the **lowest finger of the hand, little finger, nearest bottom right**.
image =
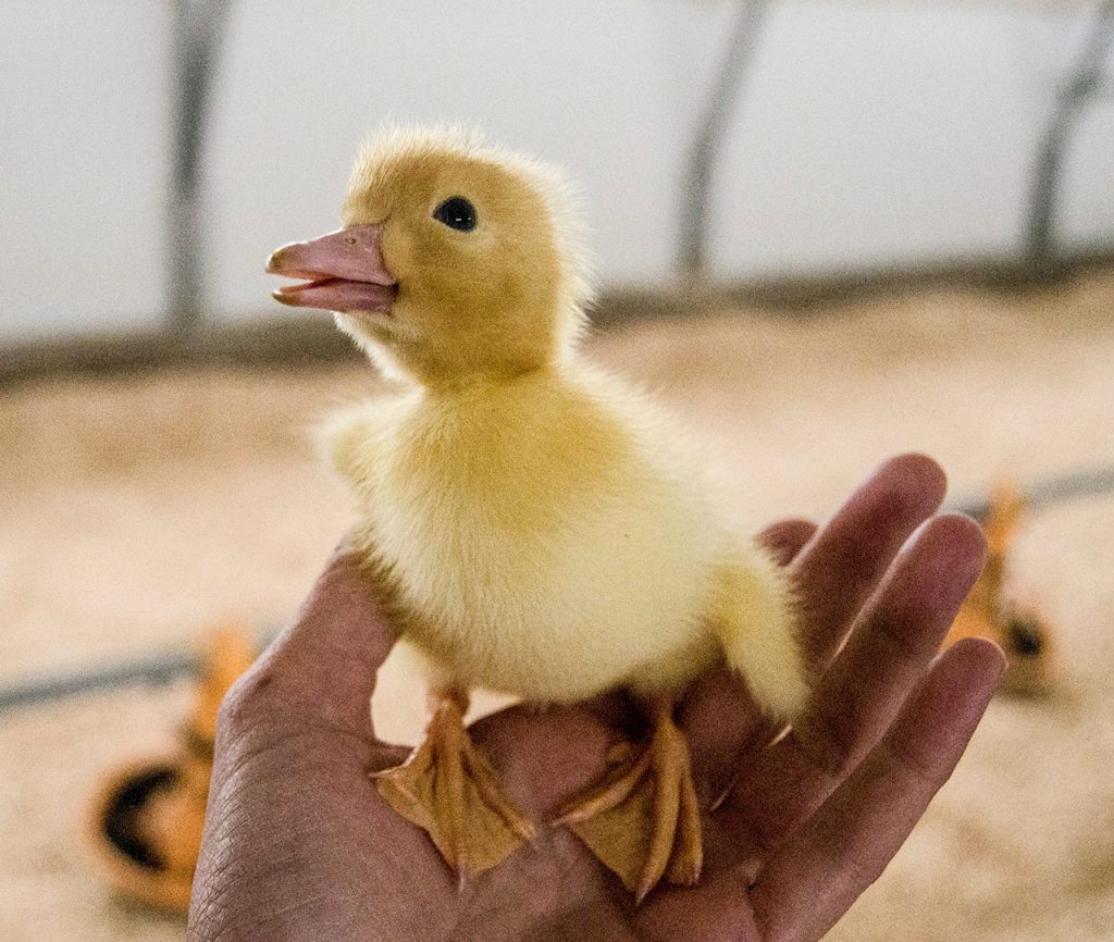
[[881,874],[951,775],[1005,665],[974,638],[937,659],[885,739],[759,874],[751,901],[764,939],[819,939]]

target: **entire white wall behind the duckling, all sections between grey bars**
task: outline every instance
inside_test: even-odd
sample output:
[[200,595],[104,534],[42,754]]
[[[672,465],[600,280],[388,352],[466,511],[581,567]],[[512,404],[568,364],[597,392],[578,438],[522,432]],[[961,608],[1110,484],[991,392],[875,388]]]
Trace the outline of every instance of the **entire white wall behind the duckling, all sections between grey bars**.
[[[164,313],[167,6],[0,0],[0,342]],[[387,115],[476,121],[565,163],[604,279],[668,278],[724,0],[234,9],[207,151],[216,320],[270,313],[267,252],[336,224],[356,144]],[[715,181],[714,271],[1014,249],[1079,26],[1010,4],[775,4]],[[1112,166],[1114,107],[1098,105],[1068,163],[1066,242],[1114,239]]]

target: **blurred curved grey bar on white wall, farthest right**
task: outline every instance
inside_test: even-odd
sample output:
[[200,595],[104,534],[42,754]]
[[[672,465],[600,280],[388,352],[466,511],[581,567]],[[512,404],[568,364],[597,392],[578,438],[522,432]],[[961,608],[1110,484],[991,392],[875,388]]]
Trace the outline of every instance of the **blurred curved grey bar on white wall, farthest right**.
[[1114,0],[1103,0],[1095,10],[1091,32],[1057,98],[1037,151],[1025,230],[1026,261],[1034,275],[1047,274],[1055,267],[1054,224],[1064,155],[1084,105],[1103,89],[1105,59],[1112,40]]

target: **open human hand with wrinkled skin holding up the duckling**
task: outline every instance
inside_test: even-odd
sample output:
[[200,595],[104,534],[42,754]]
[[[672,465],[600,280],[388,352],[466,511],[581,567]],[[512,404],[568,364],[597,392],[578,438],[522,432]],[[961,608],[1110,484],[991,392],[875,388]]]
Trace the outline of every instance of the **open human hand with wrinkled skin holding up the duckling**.
[[[934,516],[928,459],[882,465],[825,524],[771,527],[790,566],[815,678],[786,736],[726,671],[677,716],[705,808],[694,889],[638,907],[545,822],[638,735],[622,695],[514,707],[472,727],[519,806],[543,824],[459,892],[426,834],[368,781],[407,749],[374,737],[368,703],[394,635],[339,553],[287,629],[226,699],[194,940],[817,940],[881,873],[950,775],[1004,659],[967,640],[937,655],[981,566],[965,518]],[[847,639],[846,644],[843,644]]]

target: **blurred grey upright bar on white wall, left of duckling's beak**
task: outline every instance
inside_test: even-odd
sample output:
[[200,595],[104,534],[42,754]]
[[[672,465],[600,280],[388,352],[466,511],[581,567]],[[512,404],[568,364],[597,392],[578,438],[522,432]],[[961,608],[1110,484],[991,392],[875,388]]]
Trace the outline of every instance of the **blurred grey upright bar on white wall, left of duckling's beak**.
[[231,0],[174,0],[174,156],[167,233],[170,330],[190,334],[203,315],[202,157],[217,50]]

